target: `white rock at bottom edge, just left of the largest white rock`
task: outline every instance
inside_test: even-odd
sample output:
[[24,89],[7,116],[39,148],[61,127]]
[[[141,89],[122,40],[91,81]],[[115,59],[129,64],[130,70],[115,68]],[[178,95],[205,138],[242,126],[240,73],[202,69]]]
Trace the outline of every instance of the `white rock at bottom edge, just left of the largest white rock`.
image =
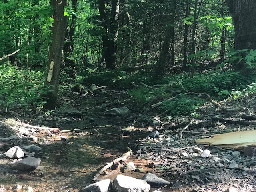
[[105,179],[88,185],[86,188],[82,189],[81,192],[108,192],[110,188],[110,179]]

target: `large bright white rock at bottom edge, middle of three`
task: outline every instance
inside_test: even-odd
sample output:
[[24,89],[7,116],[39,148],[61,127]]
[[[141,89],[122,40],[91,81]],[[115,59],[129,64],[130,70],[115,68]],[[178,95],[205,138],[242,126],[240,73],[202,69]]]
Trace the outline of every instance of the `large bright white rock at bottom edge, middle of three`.
[[113,180],[113,188],[118,192],[149,192],[150,185],[145,180],[118,175]]

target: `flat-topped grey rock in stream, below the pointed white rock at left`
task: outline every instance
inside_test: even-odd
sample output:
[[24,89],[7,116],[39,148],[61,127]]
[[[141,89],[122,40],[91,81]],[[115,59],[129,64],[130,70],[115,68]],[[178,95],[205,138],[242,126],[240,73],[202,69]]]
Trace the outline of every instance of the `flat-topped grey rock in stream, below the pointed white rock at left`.
[[41,159],[35,157],[26,157],[12,165],[12,168],[19,171],[33,171],[40,164]]

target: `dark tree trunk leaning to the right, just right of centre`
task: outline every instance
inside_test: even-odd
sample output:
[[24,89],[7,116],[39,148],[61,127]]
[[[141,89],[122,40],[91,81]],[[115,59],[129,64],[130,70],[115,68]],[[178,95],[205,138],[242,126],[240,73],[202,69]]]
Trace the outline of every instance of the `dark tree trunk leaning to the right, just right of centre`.
[[[168,51],[169,51],[169,48],[170,48],[170,42],[172,40],[172,37],[174,36],[175,9],[176,9],[176,0],[172,0],[170,23],[166,27],[164,42],[162,44],[162,48],[161,48],[161,52],[160,52],[158,62],[156,63],[156,69],[155,69],[155,74],[154,74],[155,79],[162,78],[162,76],[164,75],[164,71],[165,71],[165,68],[166,68],[166,58],[168,56]],[[173,50],[174,50],[174,48],[173,48]]]

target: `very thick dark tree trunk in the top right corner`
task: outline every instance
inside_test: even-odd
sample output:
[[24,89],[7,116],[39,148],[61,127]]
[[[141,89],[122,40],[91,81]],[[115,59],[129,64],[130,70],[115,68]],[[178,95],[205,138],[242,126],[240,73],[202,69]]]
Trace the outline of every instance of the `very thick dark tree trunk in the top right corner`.
[[[226,0],[235,29],[235,50],[256,49],[256,3],[254,0]],[[236,64],[235,70],[245,69],[245,63]]]

